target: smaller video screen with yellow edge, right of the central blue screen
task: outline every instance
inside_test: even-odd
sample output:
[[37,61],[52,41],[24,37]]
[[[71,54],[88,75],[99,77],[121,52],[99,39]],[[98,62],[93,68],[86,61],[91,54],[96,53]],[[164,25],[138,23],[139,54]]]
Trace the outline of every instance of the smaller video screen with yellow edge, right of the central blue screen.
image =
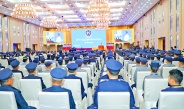
[[133,29],[114,30],[113,36],[115,42],[127,42],[127,43],[134,42]]

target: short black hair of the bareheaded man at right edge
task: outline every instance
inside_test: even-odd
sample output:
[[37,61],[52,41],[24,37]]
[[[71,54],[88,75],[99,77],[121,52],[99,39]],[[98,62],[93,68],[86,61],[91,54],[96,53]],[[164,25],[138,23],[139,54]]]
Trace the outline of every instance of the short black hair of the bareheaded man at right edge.
[[183,73],[178,69],[173,69],[169,71],[169,76],[174,78],[174,81],[181,84],[183,80]]

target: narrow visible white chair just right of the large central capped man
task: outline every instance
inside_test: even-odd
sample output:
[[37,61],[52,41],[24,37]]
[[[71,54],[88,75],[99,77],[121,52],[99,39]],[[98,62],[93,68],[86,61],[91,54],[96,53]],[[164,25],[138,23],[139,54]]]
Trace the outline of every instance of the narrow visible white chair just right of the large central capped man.
[[139,107],[139,99],[142,98],[143,90],[142,85],[144,78],[151,74],[150,71],[138,71],[137,72],[137,81],[136,81],[136,89],[133,89],[134,96],[135,96],[135,105]]

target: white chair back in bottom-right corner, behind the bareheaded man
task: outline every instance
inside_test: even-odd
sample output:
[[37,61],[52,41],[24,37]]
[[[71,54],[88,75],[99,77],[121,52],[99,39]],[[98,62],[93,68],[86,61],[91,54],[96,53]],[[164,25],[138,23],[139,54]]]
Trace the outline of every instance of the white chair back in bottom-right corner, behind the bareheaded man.
[[183,109],[184,92],[160,92],[158,109]]

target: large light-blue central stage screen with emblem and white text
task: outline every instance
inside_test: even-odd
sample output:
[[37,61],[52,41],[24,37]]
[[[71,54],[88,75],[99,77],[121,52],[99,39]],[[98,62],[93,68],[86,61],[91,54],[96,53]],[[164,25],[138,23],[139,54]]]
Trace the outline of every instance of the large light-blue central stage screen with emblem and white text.
[[106,30],[97,29],[73,29],[72,47],[93,48],[98,45],[106,46]]

